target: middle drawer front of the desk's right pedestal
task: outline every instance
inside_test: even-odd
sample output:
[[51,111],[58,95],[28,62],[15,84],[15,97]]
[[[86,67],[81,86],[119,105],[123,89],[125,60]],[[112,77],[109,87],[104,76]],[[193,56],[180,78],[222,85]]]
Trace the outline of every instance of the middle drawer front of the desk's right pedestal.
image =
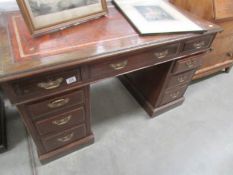
[[173,75],[169,80],[167,88],[175,87],[175,86],[178,86],[180,84],[190,82],[192,80],[192,77],[193,77],[195,71],[196,71],[196,69],[185,72],[185,73]]

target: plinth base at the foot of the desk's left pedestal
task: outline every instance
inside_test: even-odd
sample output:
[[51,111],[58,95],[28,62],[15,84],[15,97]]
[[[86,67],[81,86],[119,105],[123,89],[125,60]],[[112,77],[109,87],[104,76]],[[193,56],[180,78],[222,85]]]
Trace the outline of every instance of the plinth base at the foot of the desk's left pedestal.
[[49,163],[55,159],[58,159],[66,154],[76,151],[77,149],[84,148],[90,144],[94,143],[94,135],[91,134],[83,139],[73,142],[64,147],[58,148],[54,151],[48,152],[46,154],[39,155],[39,160],[41,164]]

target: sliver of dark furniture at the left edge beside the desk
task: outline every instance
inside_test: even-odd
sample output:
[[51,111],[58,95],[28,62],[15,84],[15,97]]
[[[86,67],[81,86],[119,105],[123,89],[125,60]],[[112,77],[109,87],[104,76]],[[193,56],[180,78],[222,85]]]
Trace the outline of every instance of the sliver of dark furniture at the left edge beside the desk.
[[6,116],[3,100],[0,98],[0,153],[7,149]]

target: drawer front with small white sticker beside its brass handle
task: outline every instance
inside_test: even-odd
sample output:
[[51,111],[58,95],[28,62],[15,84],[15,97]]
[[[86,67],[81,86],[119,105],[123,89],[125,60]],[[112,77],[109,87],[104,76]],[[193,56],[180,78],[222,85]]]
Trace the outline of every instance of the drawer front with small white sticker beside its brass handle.
[[81,73],[77,68],[13,82],[12,87],[16,97],[27,98],[63,90],[80,82]]

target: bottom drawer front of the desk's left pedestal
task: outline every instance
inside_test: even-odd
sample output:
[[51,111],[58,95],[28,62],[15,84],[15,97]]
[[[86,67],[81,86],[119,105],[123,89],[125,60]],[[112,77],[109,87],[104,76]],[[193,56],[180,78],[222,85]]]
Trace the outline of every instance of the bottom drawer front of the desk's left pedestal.
[[77,141],[85,136],[86,127],[83,124],[75,128],[66,130],[62,133],[42,138],[42,142],[46,151],[52,151],[74,141]]

